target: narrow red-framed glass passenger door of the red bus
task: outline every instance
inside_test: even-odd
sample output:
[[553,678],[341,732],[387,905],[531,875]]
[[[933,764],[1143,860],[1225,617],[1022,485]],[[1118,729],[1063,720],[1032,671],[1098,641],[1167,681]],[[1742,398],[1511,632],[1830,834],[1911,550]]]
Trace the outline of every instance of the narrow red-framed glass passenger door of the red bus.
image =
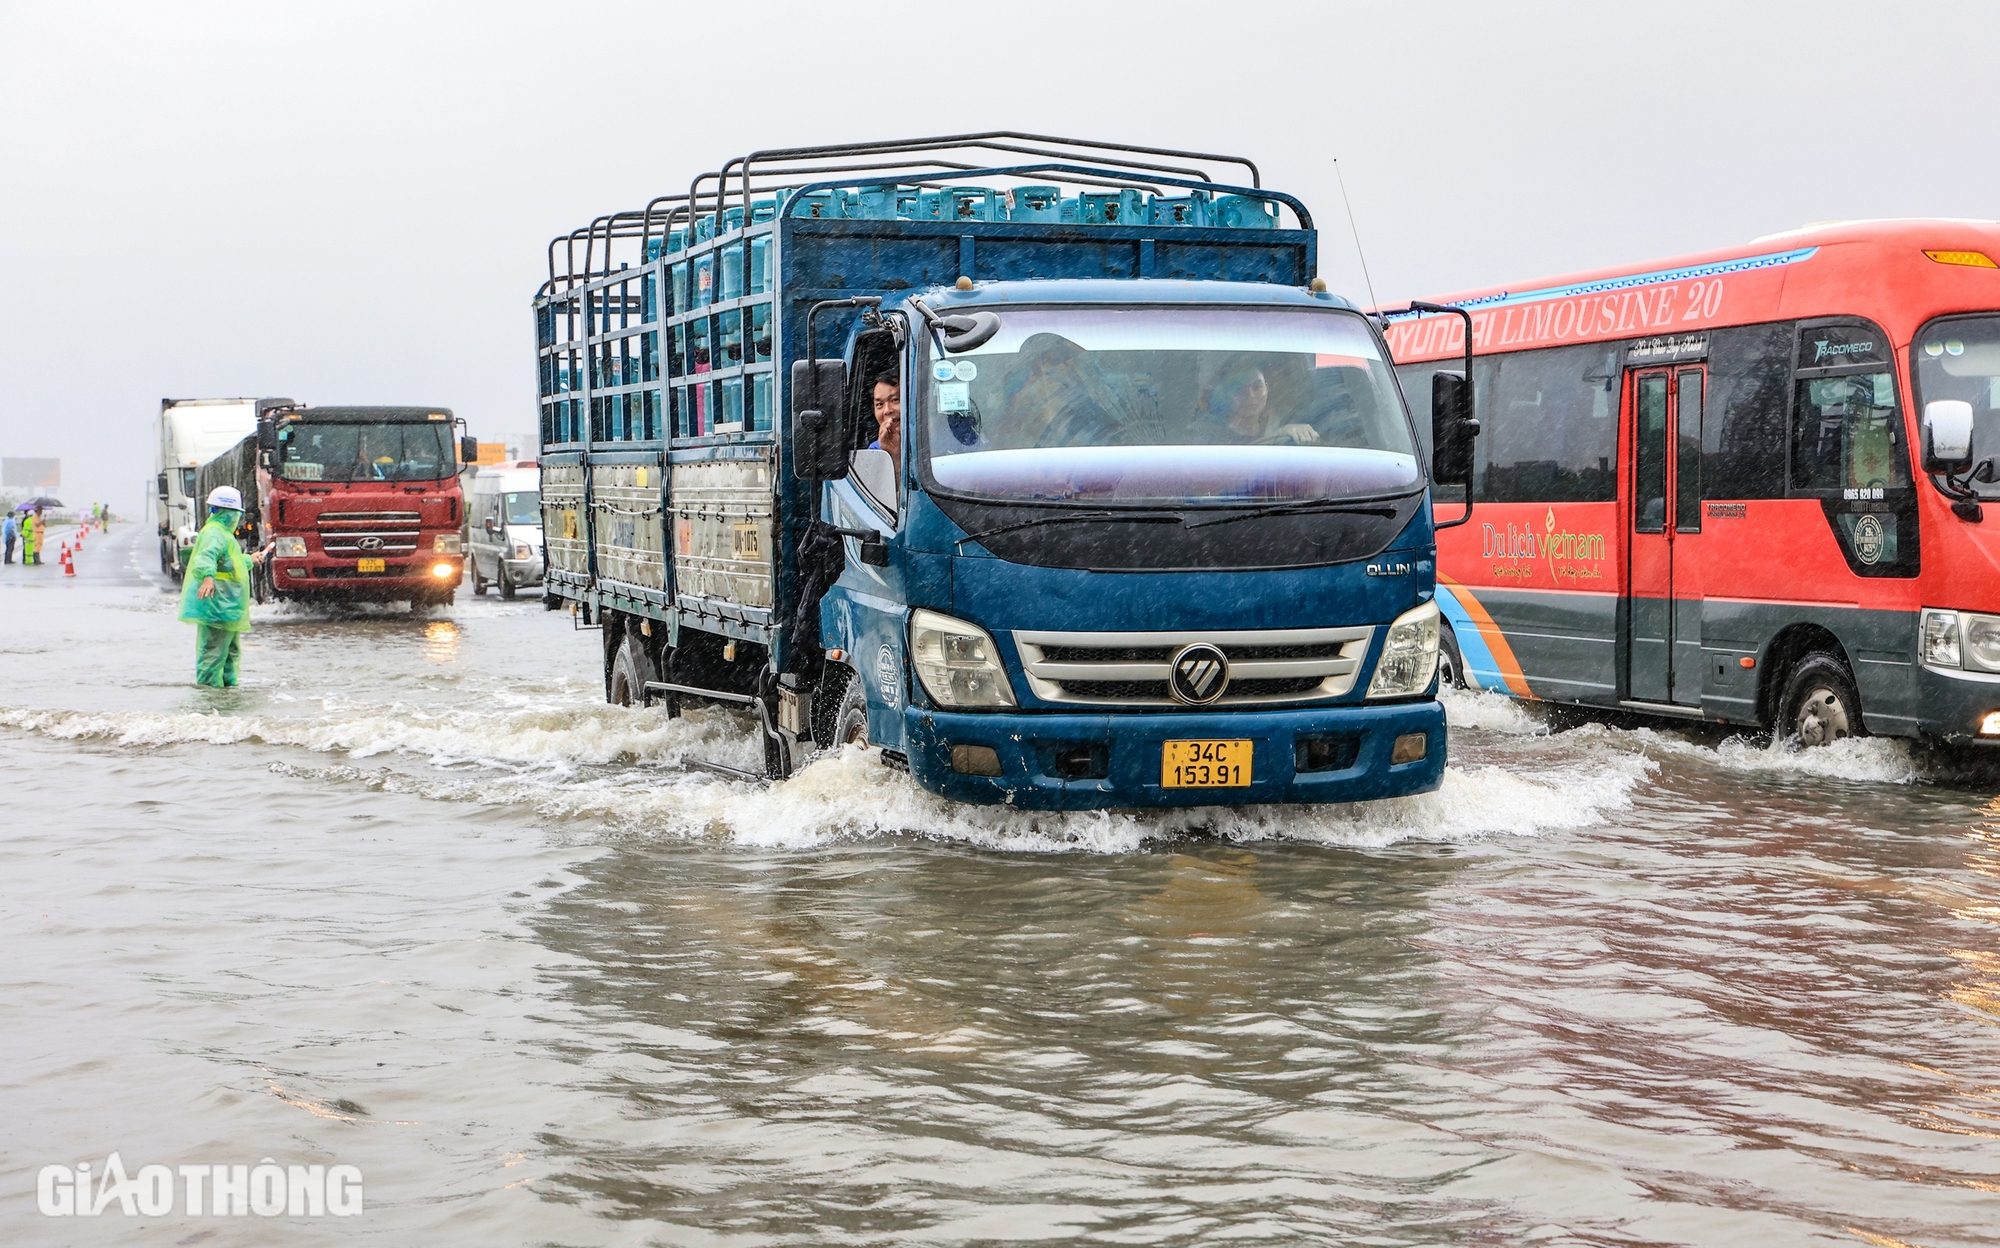
[[1702,704],[1702,600],[1688,536],[1702,530],[1704,374],[1700,364],[1626,372],[1632,394],[1626,698],[1632,702]]

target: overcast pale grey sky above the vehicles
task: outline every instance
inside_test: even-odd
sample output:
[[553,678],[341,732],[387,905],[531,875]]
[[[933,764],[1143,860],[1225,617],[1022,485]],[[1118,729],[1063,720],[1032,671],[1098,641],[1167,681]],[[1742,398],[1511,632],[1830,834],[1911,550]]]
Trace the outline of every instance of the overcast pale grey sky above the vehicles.
[[544,246],[760,146],[1242,152],[1384,298],[2000,216],[2000,4],[0,0],[0,454],[126,514],[160,396],[534,428]]

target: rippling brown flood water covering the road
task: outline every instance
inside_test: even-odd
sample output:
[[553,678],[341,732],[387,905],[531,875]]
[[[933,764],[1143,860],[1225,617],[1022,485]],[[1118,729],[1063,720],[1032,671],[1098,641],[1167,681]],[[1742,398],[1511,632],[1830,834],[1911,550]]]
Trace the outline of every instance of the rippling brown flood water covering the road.
[[[0,1242],[1992,1244],[2000,772],[1550,732],[1438,794],[968,810],[602,704],[534,598],[0,568]],[[354,1218],[46,1218],[46,1164]]]

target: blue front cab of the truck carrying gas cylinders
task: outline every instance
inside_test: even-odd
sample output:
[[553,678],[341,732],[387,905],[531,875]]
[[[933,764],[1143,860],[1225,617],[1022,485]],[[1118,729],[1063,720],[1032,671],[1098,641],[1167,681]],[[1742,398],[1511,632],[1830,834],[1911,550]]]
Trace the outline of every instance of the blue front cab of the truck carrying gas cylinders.
[[[820,606],[848,668],[830,738],[1014,806],[1438,782],[1426,478],[1352,304],[1054,280],[884,306],[844,418],[814,422],[850,442],[822,484],[848,546]],[[988,336],[930,332],[960,320]]]

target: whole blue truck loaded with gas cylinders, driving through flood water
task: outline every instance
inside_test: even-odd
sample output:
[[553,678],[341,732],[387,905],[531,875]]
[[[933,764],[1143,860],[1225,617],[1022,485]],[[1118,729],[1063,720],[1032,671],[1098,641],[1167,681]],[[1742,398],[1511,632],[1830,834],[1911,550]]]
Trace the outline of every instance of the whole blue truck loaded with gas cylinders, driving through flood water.
[[1034,810],[1432,790],[1470,392],[1418,436],[1316,266],[1244,158],[1014,132],[600,216],[534,300],[544,604],[610,702],[742,706],[772,778],[862,742]]

